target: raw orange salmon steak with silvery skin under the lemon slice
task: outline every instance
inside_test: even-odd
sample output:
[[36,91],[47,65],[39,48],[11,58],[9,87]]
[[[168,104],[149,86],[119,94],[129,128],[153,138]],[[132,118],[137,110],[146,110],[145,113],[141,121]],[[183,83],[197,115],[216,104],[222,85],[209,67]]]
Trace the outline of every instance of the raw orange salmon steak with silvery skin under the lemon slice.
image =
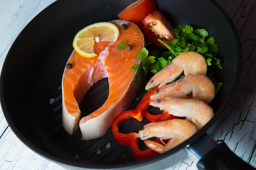
[[[116,42],[95,42],[93,58],[80,56],[73,51],[67,63],[71,69],[64,69],[62,77],[62,123],[64,129],[72,135],[79,127],[83,140],[96,139],[111,127],[113,119],[125,111],[142,88],[144,74],[142,68],[131,71],[131,67],[140,64],[137,52],[144,47],[144,37],[140,29],[129,21],[113,20],[119,29]],[[122,30],[122,24],[128,28]],[[117,46],[127,40],[132,50],[118,50]],[[98,110],[84,116],[81,120],[79,105],[86,92],[100,79],[108,77],[109,95]]]

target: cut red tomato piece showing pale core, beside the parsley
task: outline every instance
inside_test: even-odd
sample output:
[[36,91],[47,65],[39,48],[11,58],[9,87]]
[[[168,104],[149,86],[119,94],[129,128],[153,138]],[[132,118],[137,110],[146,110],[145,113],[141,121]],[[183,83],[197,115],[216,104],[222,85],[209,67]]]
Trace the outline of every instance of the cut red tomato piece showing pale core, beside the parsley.
[[151,44],[162,48],[165,46],[157,41],[157,39],[166,42],[174,40],[176,36],[172,34],[172,29],[172,24],[160,11],[154,11],[152,14],[145,17],[141,26],[141,31],[145,39]]

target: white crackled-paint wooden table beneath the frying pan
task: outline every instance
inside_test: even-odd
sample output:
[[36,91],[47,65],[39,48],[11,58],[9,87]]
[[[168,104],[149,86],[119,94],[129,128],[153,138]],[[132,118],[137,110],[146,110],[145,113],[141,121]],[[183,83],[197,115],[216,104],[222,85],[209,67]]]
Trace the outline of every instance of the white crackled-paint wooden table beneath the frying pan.
[[[0,69],[19,32],[55,0],[0,0]],[[232,18],[241,39],[243,69],[236,94],[212,136],[256,167],[256,0],[216,0]],[[187,158],[168,170],[195,170]],[[38,156],[15,136],[0,110],[0,170],[64,170]]]

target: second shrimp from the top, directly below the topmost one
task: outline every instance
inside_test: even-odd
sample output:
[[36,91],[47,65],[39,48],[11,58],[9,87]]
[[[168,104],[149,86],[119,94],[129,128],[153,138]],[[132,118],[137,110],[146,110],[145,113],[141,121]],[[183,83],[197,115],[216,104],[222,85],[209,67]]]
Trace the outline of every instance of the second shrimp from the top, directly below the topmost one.
[[154,91],[151,100],[164,97],[180,98],[192,92],[193,99],[209,104],[215,97],[215,86],[211,79],[200,74],[192,74]]

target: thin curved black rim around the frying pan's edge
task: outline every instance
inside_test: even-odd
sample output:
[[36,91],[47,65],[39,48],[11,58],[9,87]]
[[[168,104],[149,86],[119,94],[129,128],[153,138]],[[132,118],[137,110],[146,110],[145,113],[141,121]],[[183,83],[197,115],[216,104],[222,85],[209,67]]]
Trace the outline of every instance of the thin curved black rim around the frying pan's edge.
[[[230,28],[233,32],[233,36],[236,40],[236,51],[237,51],[237,69],[236,69],[236,76],[233,80],[233,85],[230,88],[230,91],[226,97],[226,99],[224,100],[224,102],[222,103],[221,107],[218,109],[218,111],[215,113],[215,116],[203,127],[201,128],[195,135],[193,135],[192,137],[190,137],[189,139],[187,139],[185,142],[183,142],[182,144],[178,145],[177,147],[173,148],[172,150],[169,150],[166,153],[160,154],[158,156],[154,156],[152,158],[149,159],[145,159],[143,161],[137,161],[137,162],[133,162],[133,163],[129,163],[129,164],[121,164],[121,165],[104,165],[104,169],[119,169],[119,170],[124,170],[124,169],[130,169],[130,168],[136,168],[136,167],[143,167],[145,165],[148,164],[153,164],[157,161],[160,161],[163,158],[166,158],[168,156],[172,156],[173,154],[177,153],[180,150],[183,150],[186,146],[188,146],[189,144],[191,144],[192,142],[195,142],[197,139],[199,139],[201,136],[203,136],[205,133],[207,133],[207,130],[209,130],[210,127],[212,127],[212,125],[217,122],[217,120],[219,119],[219,117],[221,116],[221,114],[224,112],[224,110],[226,109],[226,106],[229,104],[229,102],[231,101],[231,99],[233,98],[234,93],[231,93],[232,91],[236,91],[237,85],[239,83],[239,78],[241,75],[241,61],[242,61],[242,52],[241,52],[241,43],[240,43],[240,39],[239,39],[239,34],[236,31],[236,27],[234,26],[232,20],[230,19],[230,17],[227,15],[227,13],[224,11],[223,8],[221,8],[221,6],[218,5],[218,3],[216,3],[214,0],[209,0],[210,3],[212,3],[216,8],[218,8],[218,10],[222,13],[222,15],[226,18],[227,22],[230,25]],[[41,12],[39,12],[24,28],[23,30],[20,32],[20,34],[22,34],[22,32],[24,31],[24,29],[26,29],[34,20],[36,20],[38,18],[38,15],[41,15],[42,13],[45,13],[47,11],[47,9],[50,6],[53,6],[53,4],[57,4],[57,3],[61,3],[60,0],[56,0],[55,2],[49,4],[46,8],[44,8],[44,10],[42,10]],[[29,147],[29,149],[31,149],[33,152],[37,153],[38,155],[44,157],[45,159],[49,160],[49,161],[53,161],[57,164],[61,164],[67,167],[76,167],[76,168],[90,168],[90,169],[100,169],[101,166],[99,165],[89,165],[89,164],[81,164],[81,163],[73,163],[70,161],[66,161],[64,159],[59,159],[58,157],[52,156],[49,153],[44,152],[43,150],[35,147],[35,145],[33,145],[32,143],[30,143],[21,133],[20,131],[16,128],[16,126],[14,125],[14,123],[12,122],[9,113],[7,111],[6,105],[5,105],[5,101],[3,100],[3,81],[4,81],[4,74],[5,74],[5,70],[7,67],[7,63],[8,60],[10,59],[9,57],[9,52],[12,51],[12,49],[15,47],[15,44],[17,43],[17,40],[20,38],[20,34],[17,36],[17,38],[15,39],[15,41],[13,42],[11,48],[9,49],[7,55],[6,55],[6,59],[3,63],[3,68],[1,71],[1,75],[0,75],[0,103],[1,103],[1,107],[3,110],[3,114],[6,118],[7,123],[9,124],[10,128],[12,129],[12,131],[15,133],[15,135],[17,136],[17,138],[23,143],[25,144],[27,147]]]

